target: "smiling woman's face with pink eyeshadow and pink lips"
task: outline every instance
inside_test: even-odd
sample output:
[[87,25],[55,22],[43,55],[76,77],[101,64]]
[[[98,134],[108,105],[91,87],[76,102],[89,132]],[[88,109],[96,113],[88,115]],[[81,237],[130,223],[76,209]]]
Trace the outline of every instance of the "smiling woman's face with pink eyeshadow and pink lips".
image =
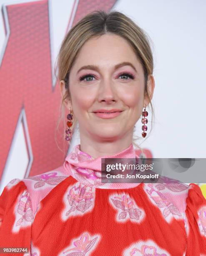
[[[154,82],[150,80],[153,92]],[[61,87],[65,92],[63,84]],[[71,107],[78,120],[81,139],[132,138],[134,125],[149,103],[144,99],[141,63],[128,42],[111,33],[92,38],[82,46],[70,70],[69,87],[71,102],[67,108]],[[112,114],[103,118],[94,113],[112,109],[122,112],[113,118],[109,116]]]

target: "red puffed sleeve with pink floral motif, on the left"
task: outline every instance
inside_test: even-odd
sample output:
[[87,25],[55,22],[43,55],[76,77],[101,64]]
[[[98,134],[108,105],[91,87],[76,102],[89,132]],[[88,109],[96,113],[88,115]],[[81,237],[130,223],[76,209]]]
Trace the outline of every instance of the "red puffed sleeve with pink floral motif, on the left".
[[33,210],[27,187],[20,179],[13,179],[0,195],[0,248],[28,248],[18,255],[30,255],[32,223]]

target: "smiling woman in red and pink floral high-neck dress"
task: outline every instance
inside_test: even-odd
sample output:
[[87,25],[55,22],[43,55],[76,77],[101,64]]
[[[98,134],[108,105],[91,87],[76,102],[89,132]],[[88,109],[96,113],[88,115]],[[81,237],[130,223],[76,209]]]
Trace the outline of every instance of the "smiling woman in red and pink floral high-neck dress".
[[152,74],[148,38],[126,15],[96,11],[68,32],[58,79],[69,111],[65,139],[78,121],[80,145],[59,168],[5,187],[0,247],[27,247],[22,255],[206,254],[198,185],[101,180],[102,158],[138,158],[133,129],[142,114],[146,136]]

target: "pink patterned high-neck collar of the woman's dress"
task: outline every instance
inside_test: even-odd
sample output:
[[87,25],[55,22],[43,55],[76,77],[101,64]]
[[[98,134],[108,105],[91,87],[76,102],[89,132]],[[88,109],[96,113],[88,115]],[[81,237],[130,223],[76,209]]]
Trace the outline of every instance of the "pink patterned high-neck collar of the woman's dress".
[[93,158],[80,150],[80,144],[75,145],[73,150],[65,158],[64,168],[68,175],[77,181],[98,188],[122,189],[136,187],[137,183],[102,183],[101,182],[101,159],[102,158],[139,158],[131,143],[128,148],[113,155]]

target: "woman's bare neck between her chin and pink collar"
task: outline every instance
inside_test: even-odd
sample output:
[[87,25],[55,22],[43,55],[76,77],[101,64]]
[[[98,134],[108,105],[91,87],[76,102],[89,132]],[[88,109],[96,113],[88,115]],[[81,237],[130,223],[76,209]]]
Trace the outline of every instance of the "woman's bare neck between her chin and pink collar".
[[128,148],[132,143],[132,138],[128,139],[124,137],[117,141],[94,141],[88,138],[80,138],[80,151],[83,151],[94,159],[103,156],[109,156],[117,154],[126,148]]

